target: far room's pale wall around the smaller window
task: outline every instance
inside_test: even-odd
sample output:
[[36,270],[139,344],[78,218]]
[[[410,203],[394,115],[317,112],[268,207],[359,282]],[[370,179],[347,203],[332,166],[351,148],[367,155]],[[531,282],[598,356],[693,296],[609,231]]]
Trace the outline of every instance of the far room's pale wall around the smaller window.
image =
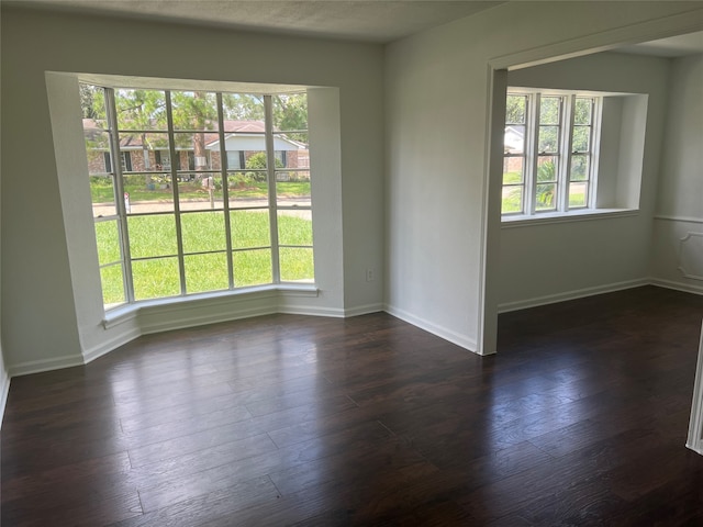
[[[643,93],[648,98],[647,121],[637,125],[639,134],[633,134],[627,126],[632,119],[624,120],[626,133],[615,142],[616,145],[609,137],[601,144],[601,152],[609,154],[613,146],[627,150],[627,146],[633,146],[629,144],[632,137],[639,137],[640,143],[644,137],[644,156],[641,147],[638,150],[631,148],[631,153],[620,152],[615,159],[606,155],[610,162],[602,164],[599,169],[599,178],[614,187],[611,193],[622,194],[612,200],[613,205],[639,208],[638,213],[538,225],[504,223],[500,257],[501,310],[522,309],[648,280],[669,66],[670,61],[663,58],[601,53],[507,74],[510,86]],[[621,115],[628,113],[632,112],[620,112]],[[620,124],[615,127],[620,134]],[[641,187],[639,178],[629,173],[631,169],[641,176]]]

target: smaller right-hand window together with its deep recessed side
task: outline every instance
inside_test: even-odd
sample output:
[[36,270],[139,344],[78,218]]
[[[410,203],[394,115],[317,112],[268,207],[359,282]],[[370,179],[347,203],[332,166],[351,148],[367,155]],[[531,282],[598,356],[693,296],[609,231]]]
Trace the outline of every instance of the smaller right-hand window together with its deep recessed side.
[[507,89],[503,221],[639,208],[646,94]]

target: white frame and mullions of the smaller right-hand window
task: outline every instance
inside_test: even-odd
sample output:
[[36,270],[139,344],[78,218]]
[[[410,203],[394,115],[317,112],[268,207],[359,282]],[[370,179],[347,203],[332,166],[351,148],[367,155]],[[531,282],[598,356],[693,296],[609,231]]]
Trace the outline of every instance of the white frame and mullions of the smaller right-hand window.
[[[523,181],[521,184],[509,183],[502,184],[502,189],[505,187],[523,187],[522,210],[515,212],[502,212],[501,216],[503,221],[511,220],[529,220],[537,217],[555,217],[565,216],[570,214],[583,214],[584,212],[594,212],[596,210],[596,195],[598,195],[598,168],[599,168],[599,152],[600,152],[600,136],[601,136],[601,120],[602,120],[602,94],[584,91],[563,91],[563,90],[547,90],[547,89],[528,89],[518,87],[509,87],[507,96],[520,96],[526,98],[525,108],[525,134],[523,144]],[[538,134],[539,134],[539,111],[540,101],[543,97],[556,97],[560,99],[559,111],[559,139],[557,152],[555,153],[559,159],[556,177],[557,192],[555,195],[555,206],[551,209],[539,210],[537,206],[537,171],[538,171],[538,158],[540,154],[538,152]],[[593,106],[591,110],[591,131],[589,141],[589,150],[585,153],[572,152],[572,138],[573,138],[573,116],[577,99],[591,99]],[[509,124],[506,123],[506,126]],[[587,199],[584,205],[569,205],[569,183],[570,183],[570,170],[571,160],[574,155],[587,155],[589,158],[589,167],[585,186],[587,186]],[[516,154],[504,154],[504,159],[509,157],[521,157]]]

